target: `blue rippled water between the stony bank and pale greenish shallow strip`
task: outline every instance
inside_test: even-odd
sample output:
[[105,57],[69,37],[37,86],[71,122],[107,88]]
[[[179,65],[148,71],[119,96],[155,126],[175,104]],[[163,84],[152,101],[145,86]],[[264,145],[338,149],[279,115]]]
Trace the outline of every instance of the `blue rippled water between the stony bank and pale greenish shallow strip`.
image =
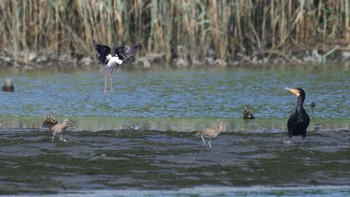
[[[350,71],[180,70],[116,72],[115,91],[103,95],[99,72],[1,73],[16,91],[1,94],[3,115],[240,118],[245,106],[259,118],[286,118],[303,87],[314,118],[349,118]],[[14,99],[16,98],[16,99]],[[310,103],[316,102],[311,111]]]

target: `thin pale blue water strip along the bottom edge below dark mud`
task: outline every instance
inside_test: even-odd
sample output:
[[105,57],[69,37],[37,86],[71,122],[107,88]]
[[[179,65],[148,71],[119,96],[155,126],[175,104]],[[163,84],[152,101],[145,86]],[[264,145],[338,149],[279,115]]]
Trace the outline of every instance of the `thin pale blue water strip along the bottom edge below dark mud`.
[[[90,190],[62,191],[60,196],[347,196],[346,186],[310,187],[220,187],[202,186],[179,190]],[[48,195],[51,196],[51,195]],[[52,195],[53,196],[53,195]]]

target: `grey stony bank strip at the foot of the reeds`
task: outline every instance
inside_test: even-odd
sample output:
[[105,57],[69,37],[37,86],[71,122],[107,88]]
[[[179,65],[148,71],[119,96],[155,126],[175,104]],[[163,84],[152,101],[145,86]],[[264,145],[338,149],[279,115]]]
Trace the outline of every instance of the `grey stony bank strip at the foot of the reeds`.
[[[98,64],[96,57],[73,57],[69,54],[49,54],[35,52],[19,52],[13,58],[10,52],[0,54],[0,68],[8,70],[72,70],[96,69]],[[129,69],[152,68],[207,68],[207,67],[269,67],[278,65],[319,66],[322,64],[340,64],[347,66],[350,63],[350,47],[333,47],[328,51],[294,50],[282,53],[274,50],[263,50],[250,53],[250,55],[235,54],[226,59],[216,59],[215,56],[205,57],[200,60],[188,58],[174,58],[167,63],[166,57],[161,53],[141,52],[138,57],[126,64]],[[102,66],[102,65],[100,65]]]

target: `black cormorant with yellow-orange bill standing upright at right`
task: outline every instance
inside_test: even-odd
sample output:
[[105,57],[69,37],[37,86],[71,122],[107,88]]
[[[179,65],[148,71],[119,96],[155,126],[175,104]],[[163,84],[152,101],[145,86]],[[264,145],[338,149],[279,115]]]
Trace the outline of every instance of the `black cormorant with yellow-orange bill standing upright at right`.
[[306,129],[310,123],[310,117],[306,113],[303,104],[305,100],[305,91],[301,88],[285,88],[286,90],[291,91],[297,96],[297,106],[295,112],[289,117],[287,127],[288,127],[288,136],[301,135],[302,138],[306,136]]

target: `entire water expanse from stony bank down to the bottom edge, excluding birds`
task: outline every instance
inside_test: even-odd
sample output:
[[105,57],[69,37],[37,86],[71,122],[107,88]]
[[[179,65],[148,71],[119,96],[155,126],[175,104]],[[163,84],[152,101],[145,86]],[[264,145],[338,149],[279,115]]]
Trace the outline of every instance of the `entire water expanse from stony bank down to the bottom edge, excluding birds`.
[[[350,71],[216,69],[103,74],[0,73],[0,193],[66,195],[347,196]],[[286,121],[303,87],[305,140]],[[315,109],[309,104],[316,102]],[[245,107],[256,120],[245,122]],[[43,116],[73,119],[51,143]],[[203,146],[191,132],[228,125]]]

